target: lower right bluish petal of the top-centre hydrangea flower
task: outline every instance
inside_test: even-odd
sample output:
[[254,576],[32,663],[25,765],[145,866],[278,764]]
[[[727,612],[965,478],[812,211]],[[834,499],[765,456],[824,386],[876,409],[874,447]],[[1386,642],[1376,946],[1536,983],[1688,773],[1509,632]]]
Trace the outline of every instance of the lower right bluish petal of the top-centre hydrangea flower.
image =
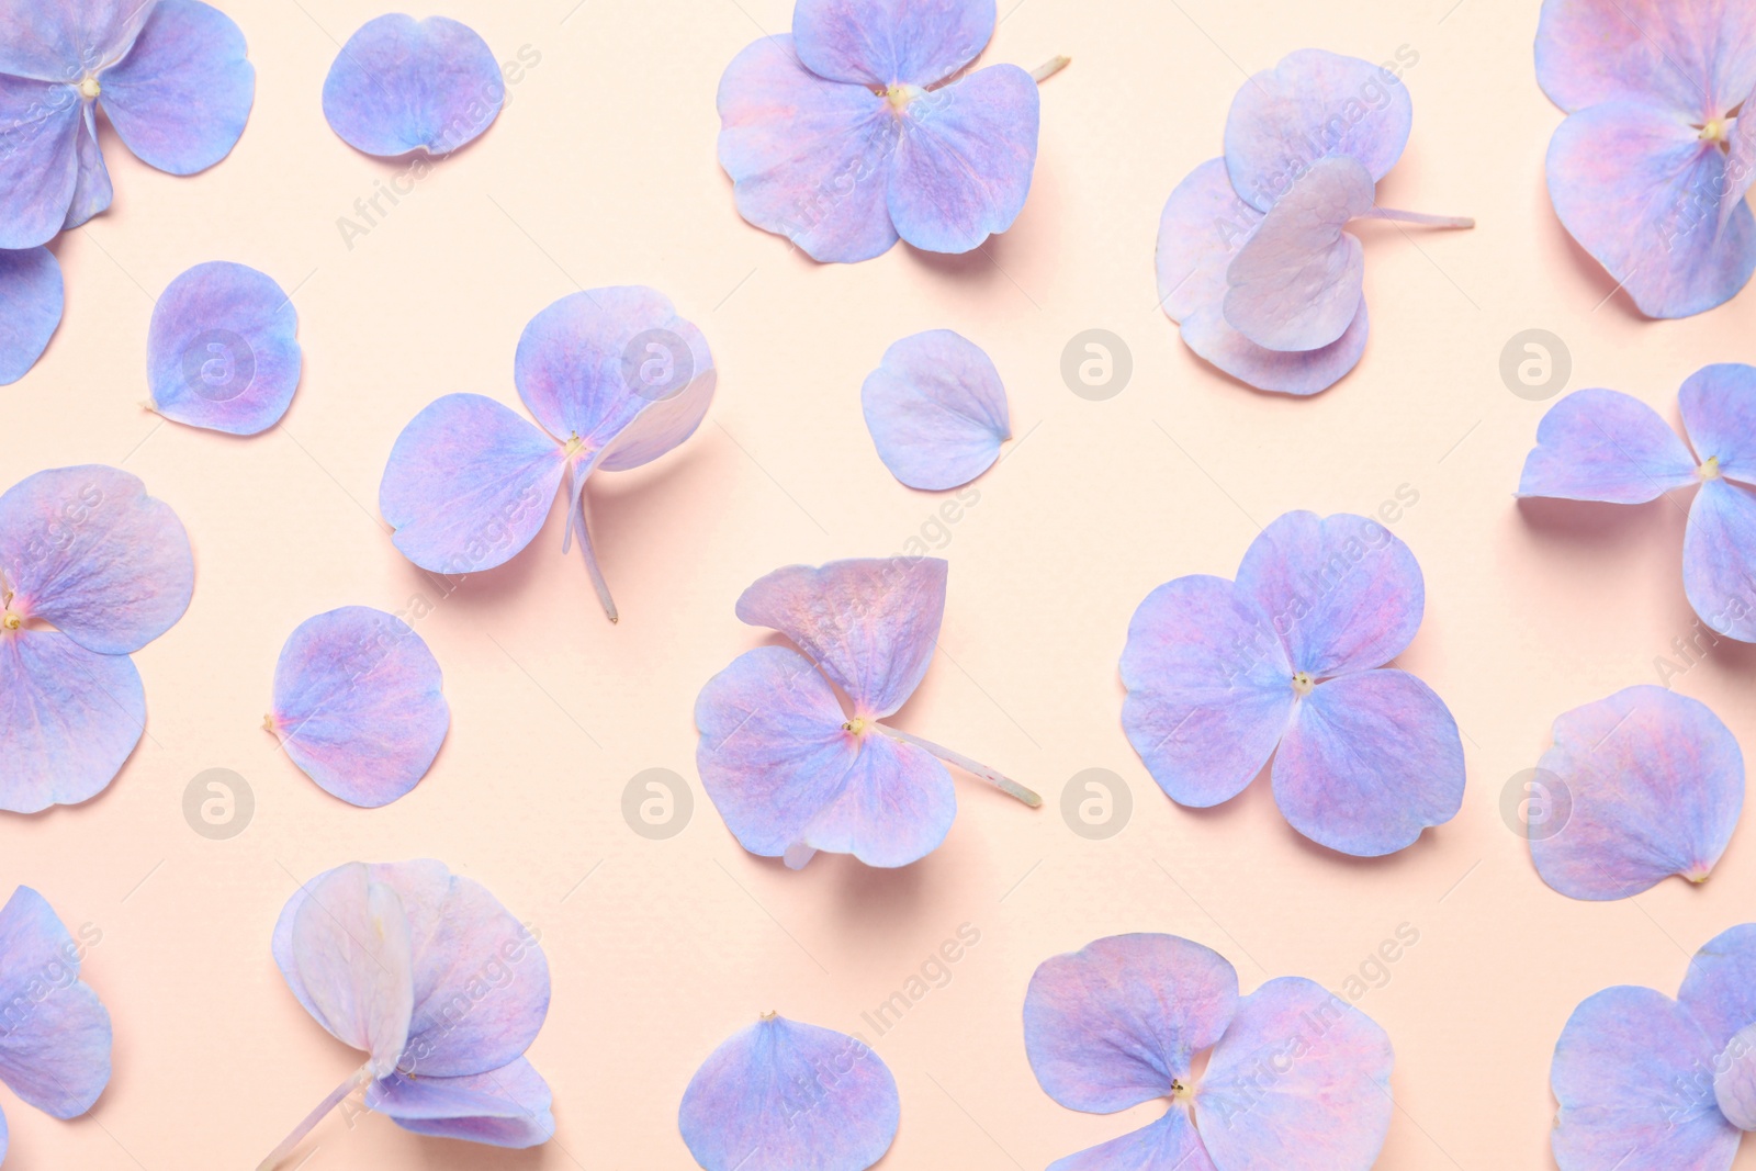
[[931,253],[968,253],[1024,211],[1041,118],[1036,79],[990,65],[903,111],[889,179],[897,235]]

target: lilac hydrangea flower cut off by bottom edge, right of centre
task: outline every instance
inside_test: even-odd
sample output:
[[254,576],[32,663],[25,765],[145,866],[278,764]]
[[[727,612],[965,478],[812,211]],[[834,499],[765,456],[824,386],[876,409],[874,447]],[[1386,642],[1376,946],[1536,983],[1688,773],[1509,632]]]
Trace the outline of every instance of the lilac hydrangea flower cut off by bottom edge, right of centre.
[[1048,1171],[1366,1171],[1391,1129],[1394,1053],[1377,1022],[1303,976],[1238,995],[1226,957],[1178,936],[1108,936],[1045,960],[1024,1048],[1068,1110],[1171,1103]]

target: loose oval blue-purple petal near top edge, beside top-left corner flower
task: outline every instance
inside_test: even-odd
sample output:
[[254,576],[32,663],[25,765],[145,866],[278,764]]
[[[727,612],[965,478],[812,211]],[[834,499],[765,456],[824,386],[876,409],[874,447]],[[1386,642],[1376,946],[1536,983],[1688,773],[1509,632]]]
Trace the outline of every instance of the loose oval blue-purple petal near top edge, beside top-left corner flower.
[[467,25],[392,12],[348,37],[323,79],[330,130],[367,154],[450,154],[500,116],[506,83]]

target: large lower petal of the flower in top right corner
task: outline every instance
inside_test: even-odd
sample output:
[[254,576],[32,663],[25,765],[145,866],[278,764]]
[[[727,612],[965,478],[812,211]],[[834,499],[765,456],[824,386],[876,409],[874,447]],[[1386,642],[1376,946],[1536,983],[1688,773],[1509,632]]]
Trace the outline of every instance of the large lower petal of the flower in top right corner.
[[1593,105],[1549,140],[1549,200],[1568,233],[1649,318],[1686,318],[1756,270],[1756,218],[1719,228],[1726,154],[1688,118],[1630,100]]

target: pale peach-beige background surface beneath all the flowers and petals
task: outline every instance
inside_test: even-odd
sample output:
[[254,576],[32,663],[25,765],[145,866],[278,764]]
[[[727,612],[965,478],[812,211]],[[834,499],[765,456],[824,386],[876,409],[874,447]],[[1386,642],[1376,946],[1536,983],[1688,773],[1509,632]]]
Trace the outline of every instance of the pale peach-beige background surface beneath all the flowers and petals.
[[[1695,946],[1756,918],[1756,836],[1744,827],[1703,888],[1670,881],[1594,906],[1547,890],[1501,822],[1501,788],[1535,764],[1549,722],[1652,681],[1693,614],[1679,509],[1514,504],[1544,406],[1507,392],[1500,349],[1554,330],[1572,386],[1616,386],[1675,418],[1691,370],[1756,356],[1756,290],[1691,321],[1640,321],[1566,241],[1542,184],[1561,116],[1533,77],[1536,5],[1022,0],[989,60],[1073,65],[1043,90],[1015,230],[968,258],[897,248],[857,267],[811,265],[746,226],[715,163],[720,72],[788,26],[790,0],[572,5],[413,5],[465,19],[502,60],[530,46],[541,63],[479,142],[351,251],[337,216],[397,167],[335,139],[318,93],[337,39],[376,7],[227,0],[249,37],[256,107],[205,176],[148,170],[105,132],[116,207],[58,246],[67,318],[0,395],[0,479],[119,463],[183,516],[198,571],[188,616],[135,657],[149,737],[111,790],[0,818],[4,885],[30,883],[68,923],[104,932],[86,978],[116,1018],[116,1074],[88,1118],[54,1122],[0,1094],[7,1166],[255,1166],[358,1060],[274,969],[283,901],[349,858],[421,855],[543,932],[555,999],[530,1057],[555,1088],[557,1138],[507,1153],[335,1115],[311,1171],[687,1167],[676,1104],[720,1039],[771,1008],[857,1029],[961,923],[982,943],[876,1041],[903,1092],[887,1167],[1034,1171],[1154,1117],[1080,1115],[1038,1088],[1018,1011],[1055,952],[1168,930],[1229,955],[1245,987],[1294,973],[1340,987],[1401,923],[1419,945],[1361,1001],[1398,1057],[1380,1166],[1551,1166],[1563,1020],[1607,985],[1673,990]],[[1184,349],[1154,304],[1152,249],[1169,190],[1219,153],[1243,70],[1305,46],[1419,53],[1414,139],[1380,198],[1480,226],[1366,228],[1371,344],[1349,379],[1299,402]],[[284,425],[248,441],[139,407],[153,295],[216,258],[297,286],[304,384]],[[378,518],[392,441],[448,392],[516,406],[525,321],[578,286],[620,283],[671,295],[720,365],[694,441],[592,483],[622,625],[560,557],[557,513],[515,564],[416,623],[455,713],[432,774],[378,811],[327,797],[258,722],[299,621],[434,597]],[[934,516],[936,497],[880,465],[859,386],[889,342],[936,327],[987,348],[1027,439],[948,530],[945,653],[903,723],[1048,802],[1031,813],[959,781],[957,825],[918,866],[820,857],[787,873],[745,855],[702,797],[690,709],[762,637],[732,616],[745,585],[788,562],[892,553]],[[1110,402],[1059,376],[1066,341],[1094,327],[1133,349],[1133,383]],[[1403,664],[1465,732],[1463,813],[1394,858],[1356,862],[1294,836],[1263,783],[1219,811],[1173,808],[1119,727],[1134,606],[1178,574],[1229,576],[1282,511],[1370,513],[1401,485],[1419,504],[1394,528],[1428,579]],[[1752,671],[1756,655],[1723,648],[1673,685],[1749,744]],[[181,813],[209,767],[255,788],[255,822],[232,841],[197,836]],[[695,787],[695,818],[669,841],[622,820],[622,788],[648,767]],[[1112,841],[1076,837],[1057,813],[1087,767],[1133,788],[1133,823]]]

